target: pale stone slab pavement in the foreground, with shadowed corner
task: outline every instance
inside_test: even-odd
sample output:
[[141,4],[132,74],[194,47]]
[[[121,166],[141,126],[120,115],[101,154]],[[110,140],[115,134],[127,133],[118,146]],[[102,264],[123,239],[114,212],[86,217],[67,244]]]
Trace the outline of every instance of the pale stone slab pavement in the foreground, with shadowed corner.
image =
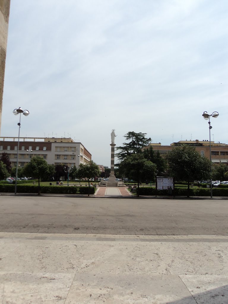
[[227,304],[228,236],[0,233],[2,304]]

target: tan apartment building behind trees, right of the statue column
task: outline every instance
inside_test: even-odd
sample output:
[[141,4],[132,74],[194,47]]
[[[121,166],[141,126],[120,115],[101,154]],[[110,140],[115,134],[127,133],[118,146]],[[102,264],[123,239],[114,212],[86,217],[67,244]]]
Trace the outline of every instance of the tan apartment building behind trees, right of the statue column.
[[[172,148],[181,146],[183,144],[195,147],[199,154],[204,155],[210,159],[210,142],[209,140],[180,140],[176,143],[171,143],[170,146],[162,146],[161,143],[151,143],[146,148],[153,147],[154,151],[159,151],[160,154],[167,154]],[[211,141],[211,160],[212,163],[226,163],[228,164],[228,144],[215,143]]]

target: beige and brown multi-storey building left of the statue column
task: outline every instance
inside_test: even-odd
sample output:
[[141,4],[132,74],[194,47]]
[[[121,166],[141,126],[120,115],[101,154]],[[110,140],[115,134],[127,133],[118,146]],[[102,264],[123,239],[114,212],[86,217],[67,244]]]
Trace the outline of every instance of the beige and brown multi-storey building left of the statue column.
[[[16,166],[17,145],[18,137],[0,138],[0,155],[2,152],[9,154],[12,166]],[[64,164],[69,167],[88,164],[92,159],[83,144],[74,142],[71,138],[20,137],[18,164],[23,167],[34,156],[43,157],[48,164]]]

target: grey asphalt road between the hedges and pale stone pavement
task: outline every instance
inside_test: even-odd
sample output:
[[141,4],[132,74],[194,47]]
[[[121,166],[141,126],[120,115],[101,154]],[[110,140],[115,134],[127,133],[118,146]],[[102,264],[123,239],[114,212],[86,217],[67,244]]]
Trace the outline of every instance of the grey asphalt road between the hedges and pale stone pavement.
[[0,231],[228,235],[227,200],[0,196]]

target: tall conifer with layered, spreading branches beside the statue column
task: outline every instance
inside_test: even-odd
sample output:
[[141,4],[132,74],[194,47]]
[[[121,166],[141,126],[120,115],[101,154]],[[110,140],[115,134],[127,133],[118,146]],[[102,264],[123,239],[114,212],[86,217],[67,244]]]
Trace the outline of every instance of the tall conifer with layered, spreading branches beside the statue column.
[[123,146],[116,147],[116,150],[119,150],[119,152],[116,153],[116,157],[119,161],[123,161],[125,157],[130,156],[131,154],[142,154],[142,148],[151,142],[151,138],[146,138],[146,135],[147,133],[136,133],[133,131],[126,133],[124,137],[130,142],[123,143]]

